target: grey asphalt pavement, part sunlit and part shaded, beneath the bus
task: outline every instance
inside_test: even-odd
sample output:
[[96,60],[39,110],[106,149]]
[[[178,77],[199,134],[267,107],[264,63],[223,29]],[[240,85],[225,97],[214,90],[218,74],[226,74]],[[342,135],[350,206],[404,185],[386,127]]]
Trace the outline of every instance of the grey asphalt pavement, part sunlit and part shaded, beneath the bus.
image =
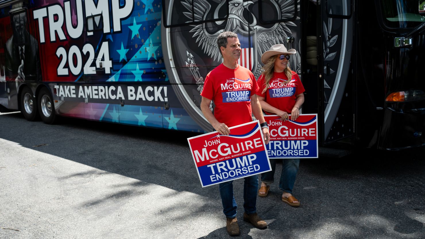
[[[231,238],[218,186],[202,188],[194,134],[63,118],[57,125],[0,113],[0,239]],[[293,208],[275,175],[257,198],[266,229],[241,239],[423,239],[425,149],[301,160]],[[277,166],[281,170],[281,164]]]

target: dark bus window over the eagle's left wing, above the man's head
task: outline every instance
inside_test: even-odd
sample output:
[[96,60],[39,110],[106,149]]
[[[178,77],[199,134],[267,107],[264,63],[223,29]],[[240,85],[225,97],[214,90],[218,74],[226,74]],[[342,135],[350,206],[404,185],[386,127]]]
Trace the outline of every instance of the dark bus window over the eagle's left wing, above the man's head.
[[[196,7],[193,6],[193,0],[163,0],[162,13],[164,16],[164,27],[176,27],[190,25],[193,23],[199,24],[203,22],[226,20],[229,16],[229,1],[228,0],[210,0],[210,1],[195,1]],[[207,11],[207,14],[200,15],[196,9],[215,9]],[[195,11],[194,11],[195,9]]]

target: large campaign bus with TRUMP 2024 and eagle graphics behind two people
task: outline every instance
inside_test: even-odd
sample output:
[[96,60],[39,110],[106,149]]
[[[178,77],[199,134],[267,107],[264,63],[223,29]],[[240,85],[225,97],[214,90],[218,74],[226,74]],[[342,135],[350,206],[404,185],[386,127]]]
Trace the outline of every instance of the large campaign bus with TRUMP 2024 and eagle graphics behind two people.
[[[421,0],[0,0],[0,111],[199,133],[204,77],[222,58],[261,75],[272,45],[317,114],[319,146],[397,150],[425,144]],[[214,110],[214,104],[210,105]]]

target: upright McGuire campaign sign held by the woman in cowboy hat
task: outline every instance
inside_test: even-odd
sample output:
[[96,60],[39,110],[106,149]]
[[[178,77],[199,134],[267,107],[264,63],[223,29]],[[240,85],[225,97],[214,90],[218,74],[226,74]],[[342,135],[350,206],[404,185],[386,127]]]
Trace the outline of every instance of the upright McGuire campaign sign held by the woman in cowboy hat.
[[269,158],[317,158],[317,114],[300,115],[297,121],[281,121],[278,115],[264,115],[269,125]]

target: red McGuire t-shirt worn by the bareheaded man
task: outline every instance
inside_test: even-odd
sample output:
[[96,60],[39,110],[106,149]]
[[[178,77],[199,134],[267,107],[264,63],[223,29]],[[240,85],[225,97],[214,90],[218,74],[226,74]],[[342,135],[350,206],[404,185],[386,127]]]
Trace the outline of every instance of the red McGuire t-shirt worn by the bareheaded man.
[[227,127],[252,121],[251,96],[258,90],[251,71],[237,65],[230,69],[223,64],[208,73],[201,96],[214,101],[214,116]]

